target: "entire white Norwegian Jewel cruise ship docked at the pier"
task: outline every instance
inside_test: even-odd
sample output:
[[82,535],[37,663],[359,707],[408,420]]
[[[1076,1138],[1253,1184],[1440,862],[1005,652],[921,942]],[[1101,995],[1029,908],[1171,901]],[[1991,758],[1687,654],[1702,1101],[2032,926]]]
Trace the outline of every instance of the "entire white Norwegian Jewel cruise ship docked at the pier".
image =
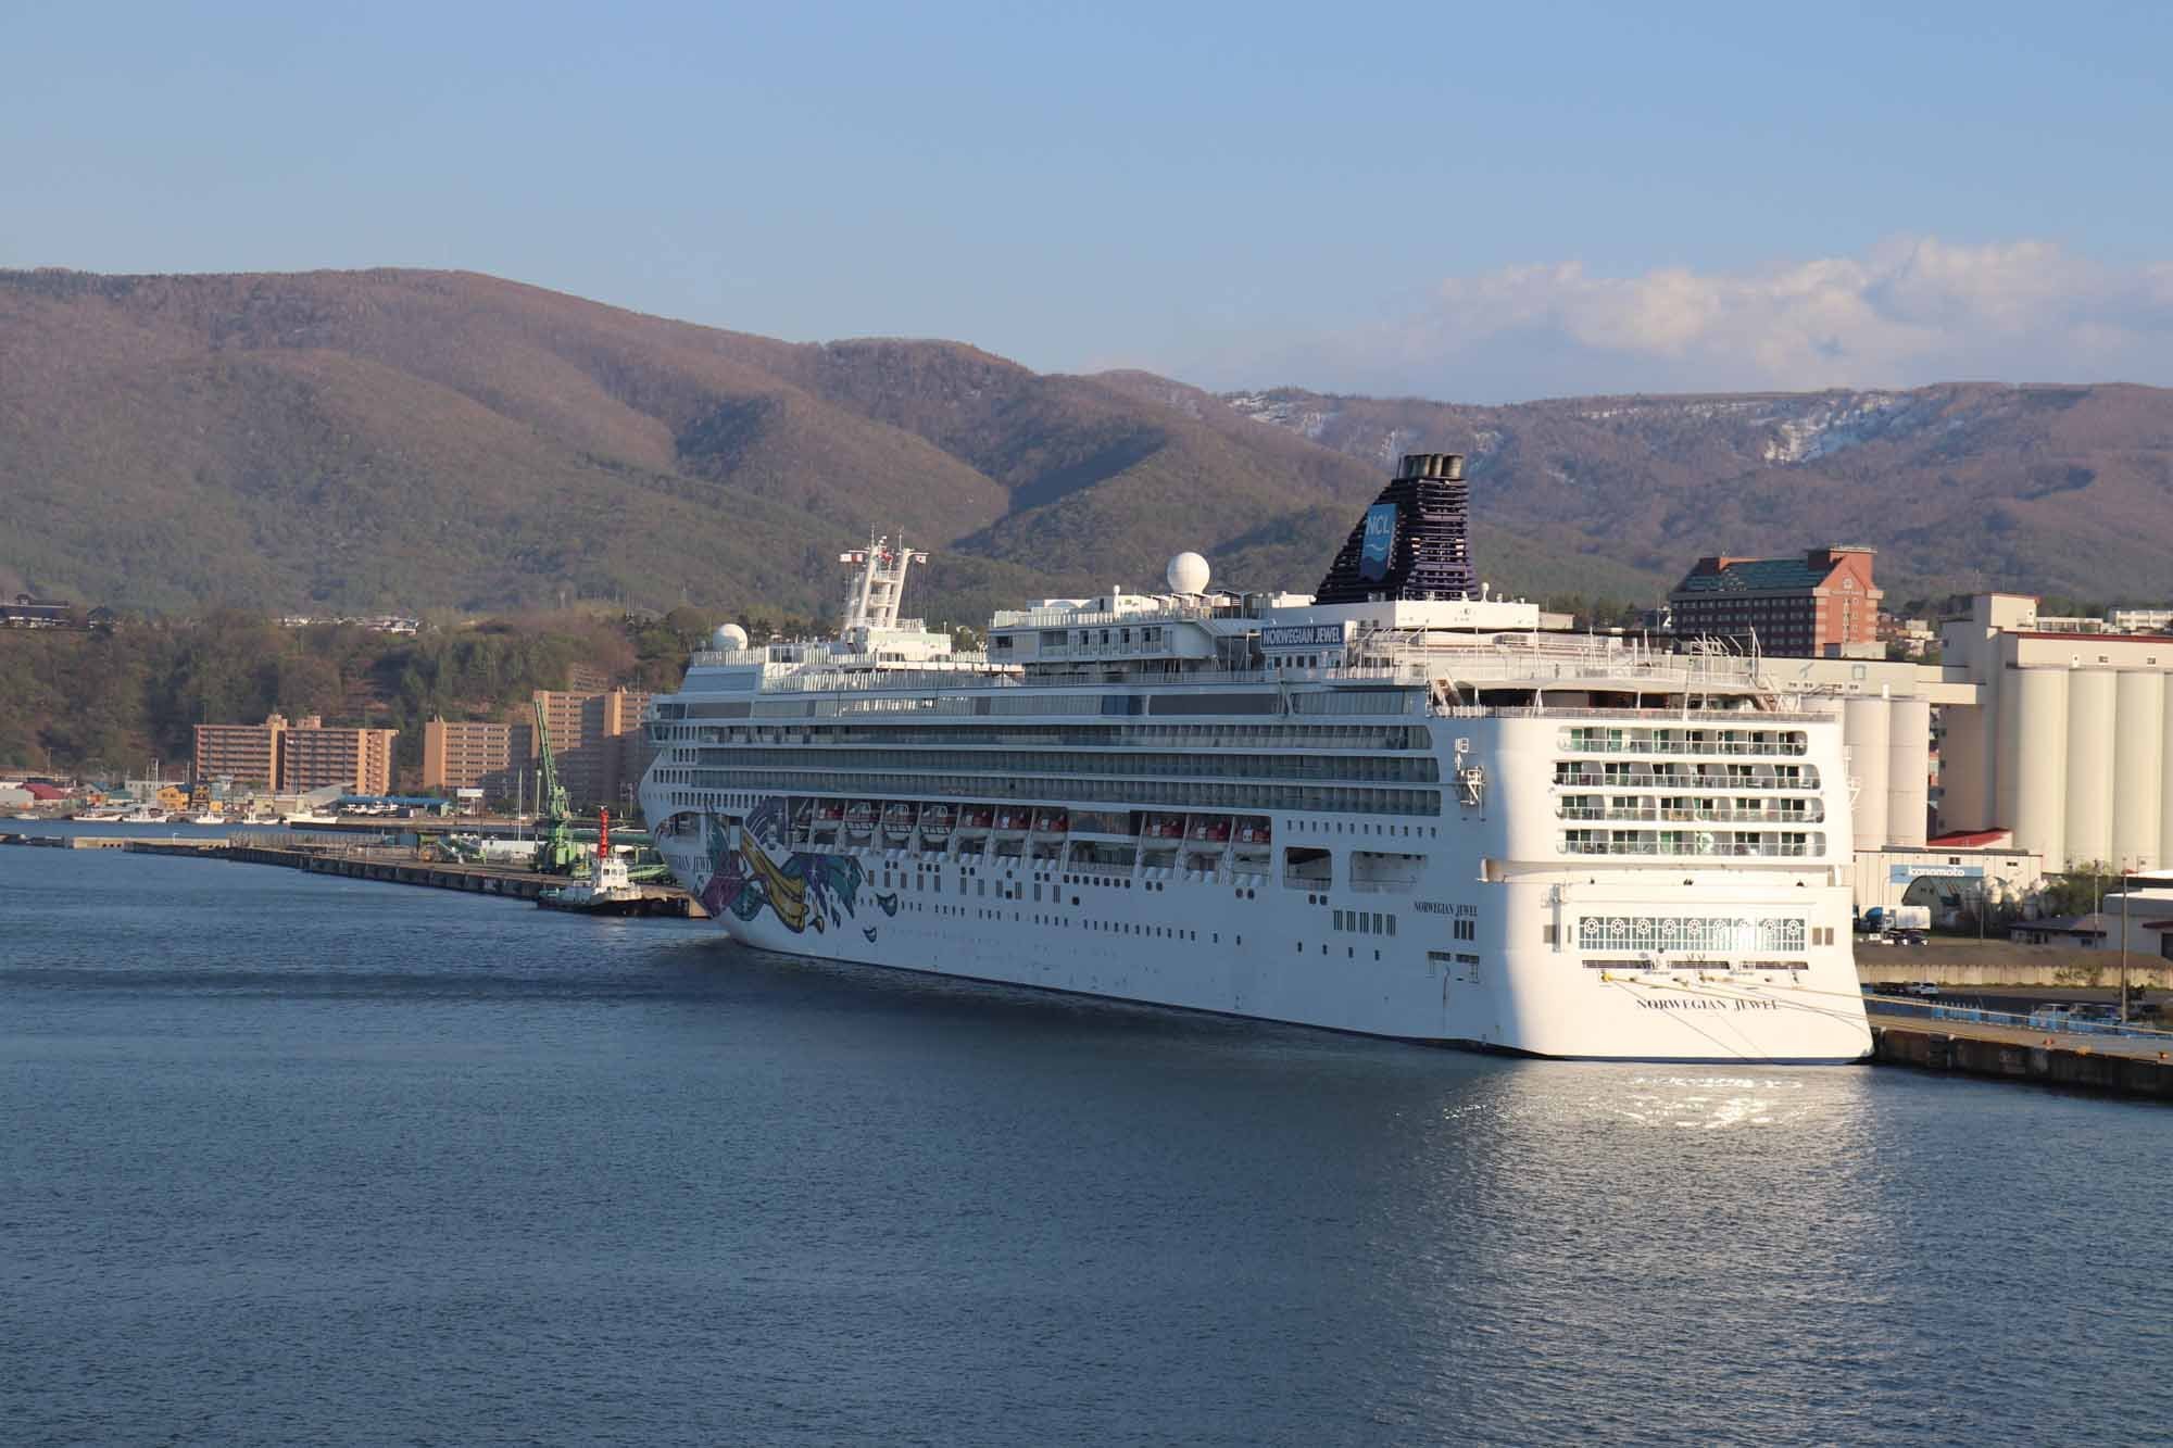
[[1838,1063],[1838,715],[1756,657],[1549,633],[1489,596],[1456,454],[1410,454],[1319,589],[737,626],[650,704],[641,802],[763,950],[1565,1059]]

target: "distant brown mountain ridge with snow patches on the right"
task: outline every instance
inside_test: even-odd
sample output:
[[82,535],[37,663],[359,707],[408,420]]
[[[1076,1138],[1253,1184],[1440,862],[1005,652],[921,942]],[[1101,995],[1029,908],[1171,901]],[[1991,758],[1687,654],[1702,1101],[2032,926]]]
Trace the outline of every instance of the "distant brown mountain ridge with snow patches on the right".
[[1519,407],[1226,400],[1354,459],[1471,454],[1473,511],[1641,570],[1825,541],[1897,600],[1971,587],[2173,594],[2173,391],[2127,385],[1569,398]]

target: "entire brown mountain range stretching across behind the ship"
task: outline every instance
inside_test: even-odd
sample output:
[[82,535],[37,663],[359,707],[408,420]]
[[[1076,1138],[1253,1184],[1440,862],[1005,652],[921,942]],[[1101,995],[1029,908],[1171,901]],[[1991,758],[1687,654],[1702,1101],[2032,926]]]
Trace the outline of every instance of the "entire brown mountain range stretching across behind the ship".
[[1217,396],[956,341],[787,344],[465,272],[0,272],[0,591],[191,611],[624,596],[828,611],[1315,585],[1399,452],[1471,459],[1480,574],[1651,602],[1701,552],[1882,550],[1893,598],[2173,591],[2173,391]]

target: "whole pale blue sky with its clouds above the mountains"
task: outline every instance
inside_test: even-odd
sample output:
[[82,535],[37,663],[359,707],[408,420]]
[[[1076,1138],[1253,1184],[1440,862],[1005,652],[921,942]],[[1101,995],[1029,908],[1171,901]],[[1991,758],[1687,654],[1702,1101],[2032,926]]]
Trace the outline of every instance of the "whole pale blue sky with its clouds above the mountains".
[[15,0],[0,265],[1210,387],[2173,383],[2173,7],[1910,9]]

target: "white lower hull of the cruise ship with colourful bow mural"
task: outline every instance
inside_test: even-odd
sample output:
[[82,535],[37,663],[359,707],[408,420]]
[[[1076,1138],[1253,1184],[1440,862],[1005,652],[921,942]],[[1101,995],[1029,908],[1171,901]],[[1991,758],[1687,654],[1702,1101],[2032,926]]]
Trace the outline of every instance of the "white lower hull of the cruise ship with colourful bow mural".
[[[1804,950],[1804,970],[1786,972],[1588,968],[1538,939],[1554,883],[1489,887],[1497,904],[1478,920],[1493,939],[1458,939],[1458,902],[1436,896],[1469,881],[1386,898],[1023,859],[774,857],[734,815],[700,815],[698,837],[689,828],[658,839],[674,874],[732,939],[778,954],[1556,1059],[1845,1063],[1871,1050],[1847,946]],[[774,878],[750,867],[750,844]],[[1758,887],[1688,894],[1710,904]],[[1847,891],[1823,894],[1845,922]],[[1339,913],[1345,926],[1362,915],[1367,931],[1334,928]],[[1395,915],[1393,937],[1371,931],[1376,915]]]

